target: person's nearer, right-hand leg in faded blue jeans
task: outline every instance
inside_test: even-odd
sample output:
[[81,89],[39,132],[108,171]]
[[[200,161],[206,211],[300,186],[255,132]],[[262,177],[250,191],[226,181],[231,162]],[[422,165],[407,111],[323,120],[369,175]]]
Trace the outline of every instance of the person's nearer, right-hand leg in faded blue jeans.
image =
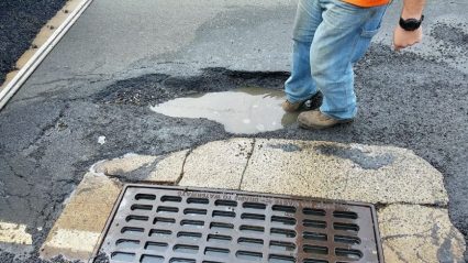
[[341,0],[322,0],[323,22],[311,48],[312,78],[323,94],[320,111],[336,120],[356,114],[353,64],[377,33],[387,7],[359,8]]

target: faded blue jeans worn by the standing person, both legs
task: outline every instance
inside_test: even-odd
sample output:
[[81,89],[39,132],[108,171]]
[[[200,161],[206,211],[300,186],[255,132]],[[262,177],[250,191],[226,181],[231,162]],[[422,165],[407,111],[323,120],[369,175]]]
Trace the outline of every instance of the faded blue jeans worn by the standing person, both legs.
[[342,0],[299,0],[293,31],[289,102],[321,90],[320,110],[335,119],[356,116],[353,64],[364,56],[387,6],[359,8]]

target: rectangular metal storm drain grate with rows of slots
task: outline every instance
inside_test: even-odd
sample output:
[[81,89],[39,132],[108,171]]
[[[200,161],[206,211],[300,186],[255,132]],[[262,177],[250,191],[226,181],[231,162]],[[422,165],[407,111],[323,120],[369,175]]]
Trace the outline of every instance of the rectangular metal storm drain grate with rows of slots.
[[100,252],[111,262],[383,262],[374,206],[127,185]]

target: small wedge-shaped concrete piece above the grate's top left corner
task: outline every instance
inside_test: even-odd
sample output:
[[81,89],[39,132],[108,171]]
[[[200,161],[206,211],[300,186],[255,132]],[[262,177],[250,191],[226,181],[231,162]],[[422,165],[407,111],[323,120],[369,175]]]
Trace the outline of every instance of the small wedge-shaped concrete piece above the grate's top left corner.
[[180,180],[183,173],[183,164],[189,150],[172,153],[156,164],[155,169],[145,182],[156,184],[175,184]]

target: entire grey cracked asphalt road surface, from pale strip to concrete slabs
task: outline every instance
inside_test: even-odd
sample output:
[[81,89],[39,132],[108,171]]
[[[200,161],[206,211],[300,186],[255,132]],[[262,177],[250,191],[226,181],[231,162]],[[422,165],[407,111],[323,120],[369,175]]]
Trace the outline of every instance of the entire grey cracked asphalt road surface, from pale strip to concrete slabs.
[[[0,220],[26,224],[34,246],[23,255],[0,244],[0,262],[40,262],[37,250],[64,200],[93,163],[238,136],[149,106],[243,86],[281,89],[294,4],[94,0],[0,112]],[[356,65],[354,124],[253,136],[411,149],[445,176],[450,219],[467,237],[468,4],[431,1],[424,43],[395,53],[390,36],[399,9],[389,9]]]

